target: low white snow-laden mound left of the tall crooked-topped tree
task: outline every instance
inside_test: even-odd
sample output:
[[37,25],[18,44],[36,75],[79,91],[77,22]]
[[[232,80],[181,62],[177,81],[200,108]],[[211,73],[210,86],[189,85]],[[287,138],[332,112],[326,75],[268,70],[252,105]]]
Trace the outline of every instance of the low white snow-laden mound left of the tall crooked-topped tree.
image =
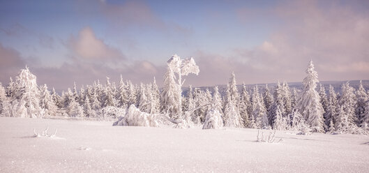
[[130,105],[126,115],[113,123],[113,126],[147,126],[158,127],[156,114],[141,112],[135,105]]

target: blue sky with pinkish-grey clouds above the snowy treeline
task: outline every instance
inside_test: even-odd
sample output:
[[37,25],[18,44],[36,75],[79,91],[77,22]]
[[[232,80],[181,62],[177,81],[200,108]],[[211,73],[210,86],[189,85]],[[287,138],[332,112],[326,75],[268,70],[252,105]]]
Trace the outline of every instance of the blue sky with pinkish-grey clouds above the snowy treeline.
[[369,1],[0,1],[0,82],[26,65],[65,90],[124,80],[159,86],[173,54],[195,87],[369,80]]

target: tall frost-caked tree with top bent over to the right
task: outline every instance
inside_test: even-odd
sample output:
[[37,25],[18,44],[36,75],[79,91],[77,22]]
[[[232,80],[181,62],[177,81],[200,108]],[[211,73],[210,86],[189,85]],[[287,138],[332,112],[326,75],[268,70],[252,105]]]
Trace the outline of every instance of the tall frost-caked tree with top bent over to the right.
[[[163,93],[163,100],[173,100],[171,105],[167,105],[165,110],[170,113],[172,119],[183,120],[182,117],[182,77],[187,76],[190,73],[195,75],[199,74],[199,67],[196,65],[195,60],[191,58],[181,59],[178,55],[174,54],[167,61],[167,74],[165,75]],[[172,74],[170,74],[172,73]],[[169,78],[168,78],[169,77]],[[171,84],[169,84],[170,82]],[[171,96],[171,92],[175,91],[177,96]],[[172,97],[172,98],[167,98]],[[163,102],[162,102],[163,104]],[[175,105],[174,105],[175,104]],[[172,107],[172,109],[170,109]]]

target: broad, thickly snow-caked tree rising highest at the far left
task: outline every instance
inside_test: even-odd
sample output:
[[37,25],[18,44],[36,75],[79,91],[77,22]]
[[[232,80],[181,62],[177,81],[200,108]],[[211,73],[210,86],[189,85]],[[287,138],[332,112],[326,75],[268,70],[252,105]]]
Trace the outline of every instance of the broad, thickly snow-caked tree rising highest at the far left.
[[19,109],[17,116],[41,118],[40,108],[40,91],[36,83],[36,76],[33,75],[29,68],[20,70],[20,73],[15,77],[17,83],[17,95],[19,95]]

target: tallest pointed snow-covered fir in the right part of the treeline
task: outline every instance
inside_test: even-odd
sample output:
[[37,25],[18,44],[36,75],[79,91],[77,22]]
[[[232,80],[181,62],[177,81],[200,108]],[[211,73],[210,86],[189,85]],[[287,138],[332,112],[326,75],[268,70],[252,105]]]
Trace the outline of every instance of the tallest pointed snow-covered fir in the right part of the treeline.
[[307,76],[303,79],[303,91],[301,91],[295,108],[303,115],[313,132],[322,133],[324,132],[324,109],[320,104],[319,93],[315,91],[319,80],[312,61],[308,64],[306,74]]

